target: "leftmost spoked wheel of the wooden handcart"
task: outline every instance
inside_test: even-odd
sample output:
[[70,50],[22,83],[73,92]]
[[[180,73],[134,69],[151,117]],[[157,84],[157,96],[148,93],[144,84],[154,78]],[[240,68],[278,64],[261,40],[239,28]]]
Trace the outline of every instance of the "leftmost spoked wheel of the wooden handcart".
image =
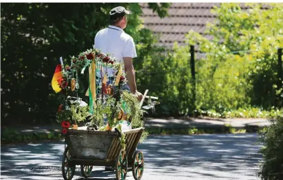
[[69,166],[71,154],[69,148],[65,148],[63,159],[62,159],[62,175],[65,180],[71,180],[75,174],[76,166]]

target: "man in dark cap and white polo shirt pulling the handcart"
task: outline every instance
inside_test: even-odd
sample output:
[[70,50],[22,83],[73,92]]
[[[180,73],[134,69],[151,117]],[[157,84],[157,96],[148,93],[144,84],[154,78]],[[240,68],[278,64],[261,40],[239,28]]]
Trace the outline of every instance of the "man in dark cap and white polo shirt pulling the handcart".
[[[137,57],[135,43],[133,38],[124,32],[127,25],[126,15],[130,14],[130,12],[122,6],[118,6],[113,8],[109,14],[110,25],[95,35],[94,47],[100,49],[104,54],[108,53],[110,56],[115,57],[120,63],[124,61],[124,71],[128,80],[127,86],[131,93],[141,100],[142,94],[137,91],[135,69],[133,67],[133,58]],[[113,69],[108,68],[106,71],[108,76],[113,76]]]

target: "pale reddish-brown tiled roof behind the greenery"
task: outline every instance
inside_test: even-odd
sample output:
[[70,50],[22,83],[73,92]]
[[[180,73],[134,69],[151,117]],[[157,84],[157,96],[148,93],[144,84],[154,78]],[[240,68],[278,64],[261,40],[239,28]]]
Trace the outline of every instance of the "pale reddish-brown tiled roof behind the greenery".
[[213,23],[216,15],[210,10],[220,3],[172,3],[168,8],[169,16],[161,19],[157,12],[152,12],[146,3],[141,4],[144,27],[159,35],[159,44],[172,45],[174,41],[185,43],[185,34],[190,30],[199,32],[208,39],[213,36],[205,34],[206,24]]

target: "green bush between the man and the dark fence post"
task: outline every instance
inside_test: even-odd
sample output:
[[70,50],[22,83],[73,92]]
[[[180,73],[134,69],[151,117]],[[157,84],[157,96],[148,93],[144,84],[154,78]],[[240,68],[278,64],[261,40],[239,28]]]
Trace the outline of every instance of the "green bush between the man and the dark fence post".
[[136,71],[137,89],[159,97],[158,115],[180,115],[192,112],[190,83],[190,53],[188,47],[177,44],[172,49],[155,47],[141,59],[142,68]]

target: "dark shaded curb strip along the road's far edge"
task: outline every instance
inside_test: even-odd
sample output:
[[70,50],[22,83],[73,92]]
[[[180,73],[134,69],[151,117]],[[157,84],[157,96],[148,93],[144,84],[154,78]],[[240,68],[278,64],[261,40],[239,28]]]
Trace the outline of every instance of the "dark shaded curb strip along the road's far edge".
[[[266,126],[146,126],[149,135],[197,135],[214,133],[257,133]],[[1,145],[42,143],[62,140],[60,129],[36,131],[12,131],[2,135]]]

